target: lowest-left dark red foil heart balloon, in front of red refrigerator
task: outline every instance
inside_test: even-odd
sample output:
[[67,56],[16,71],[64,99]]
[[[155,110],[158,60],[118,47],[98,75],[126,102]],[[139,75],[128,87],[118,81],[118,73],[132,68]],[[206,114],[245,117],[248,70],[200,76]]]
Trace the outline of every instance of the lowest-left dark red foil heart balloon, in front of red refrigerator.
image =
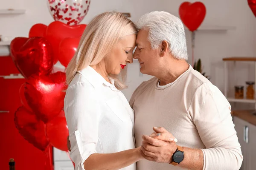
[[45,133],[45,124],[35,113],[32,113],[23,106],[15,112],[15,125],[21,136],[38,149],[44,151],[49,141]]

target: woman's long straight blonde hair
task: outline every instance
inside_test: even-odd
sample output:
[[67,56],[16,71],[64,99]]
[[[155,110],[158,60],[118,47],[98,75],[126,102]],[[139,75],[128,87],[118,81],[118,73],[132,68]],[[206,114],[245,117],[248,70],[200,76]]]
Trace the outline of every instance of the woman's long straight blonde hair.
[[[127,35],[137,34],[134,23],[120,12],[105,12],[99,14],[86,26],[79,42],[76,54],[66,69],[66,82],[70,84],[76,72],[87,66],[97,65],[106,57],[116,43]],[[109,75],[115,79],[118,89],[126,88],[126,70],[120,75]]]

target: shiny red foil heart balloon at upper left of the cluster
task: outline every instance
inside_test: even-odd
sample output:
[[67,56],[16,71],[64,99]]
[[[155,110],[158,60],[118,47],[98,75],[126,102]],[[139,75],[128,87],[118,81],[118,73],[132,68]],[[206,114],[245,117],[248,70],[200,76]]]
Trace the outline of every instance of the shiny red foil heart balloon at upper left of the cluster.
[[10,49],[13,62],[26,79],[32,74],[47,75],[52,72],[52,48],[45,38],[17,37],[12,40]]

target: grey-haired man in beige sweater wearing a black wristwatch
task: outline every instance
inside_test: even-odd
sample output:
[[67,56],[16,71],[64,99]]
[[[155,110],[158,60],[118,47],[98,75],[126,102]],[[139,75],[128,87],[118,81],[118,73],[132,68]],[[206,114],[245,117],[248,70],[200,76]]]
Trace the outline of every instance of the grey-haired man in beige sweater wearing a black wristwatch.
[[130,100],[136,145],[143,146],[149,160],[137,162],[137,169],[238,170],[243,156],[230,104],[186,62],[180,19],[154,11],[143,15],[137,27],[134,59],[139,60],[141,73],[154,76]]

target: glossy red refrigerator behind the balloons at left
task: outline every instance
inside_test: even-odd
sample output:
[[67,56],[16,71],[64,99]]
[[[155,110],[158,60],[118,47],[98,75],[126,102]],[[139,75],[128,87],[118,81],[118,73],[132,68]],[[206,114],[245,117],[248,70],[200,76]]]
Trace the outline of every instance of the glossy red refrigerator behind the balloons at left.
[[16,170],[47,170],[45,153],[27,142],[15,127],[14,113],[21,106],[19,89],[25,79],[2,76],[18,73],[11,57],[0,56],[0,169],[9,170],[9,159],[13,158]]

